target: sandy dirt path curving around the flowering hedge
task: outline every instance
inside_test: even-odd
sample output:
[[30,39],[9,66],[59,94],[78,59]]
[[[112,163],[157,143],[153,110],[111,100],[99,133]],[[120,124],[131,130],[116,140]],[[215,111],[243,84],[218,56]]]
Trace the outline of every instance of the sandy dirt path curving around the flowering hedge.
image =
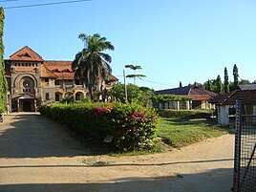
[[0,123],[0,192],[229,192],[233,150],[224,135],[156,155],[93,155],[59,124],[16,114]]

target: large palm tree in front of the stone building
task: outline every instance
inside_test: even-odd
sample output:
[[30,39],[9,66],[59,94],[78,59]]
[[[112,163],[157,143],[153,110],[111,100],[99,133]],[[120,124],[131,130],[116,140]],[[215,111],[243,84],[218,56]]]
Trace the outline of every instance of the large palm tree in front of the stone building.
[[103,51],[115,48],[106,37],[101,37],[98,33],[93,35],[80,33],[78,38],[84,42],[84,48],[75,54],[72,68],[75,76],[88,88],[91,99],[95,99],[96,92],[103,91],[103,82],[112,73],[110,67],[112,58]]

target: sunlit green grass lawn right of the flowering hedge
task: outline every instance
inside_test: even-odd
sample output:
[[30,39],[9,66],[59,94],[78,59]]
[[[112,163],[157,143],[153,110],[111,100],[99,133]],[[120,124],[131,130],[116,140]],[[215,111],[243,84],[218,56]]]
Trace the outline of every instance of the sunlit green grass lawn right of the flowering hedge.
[[182,147],[226,133],[230,130],[214,128],[207,118],[160,118],[158,136],[172,147]]

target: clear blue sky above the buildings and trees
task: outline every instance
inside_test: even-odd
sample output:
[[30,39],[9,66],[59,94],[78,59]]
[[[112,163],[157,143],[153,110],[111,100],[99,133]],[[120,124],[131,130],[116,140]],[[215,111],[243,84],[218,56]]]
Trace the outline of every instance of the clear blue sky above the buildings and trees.
[[[68,0],[0,6],[59,1]],[[147,77],[137,84],[155,90],[224,79],[224,67],[233,81],[234,64],[241,78],[256,80],[255,0],[91,0],[5,12],[5,58],[28,45],[46,60],[73,60],[83,48],[78,34],[98,32],[116,48],[109,53],[121,82],[126,64],[140,65]]]

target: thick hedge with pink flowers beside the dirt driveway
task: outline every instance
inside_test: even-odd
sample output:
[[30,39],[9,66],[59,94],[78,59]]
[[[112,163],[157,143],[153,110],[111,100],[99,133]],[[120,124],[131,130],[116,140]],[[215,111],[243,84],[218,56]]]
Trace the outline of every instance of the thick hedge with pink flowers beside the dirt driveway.
[[40,113],[66,124],[85,139],[102,142],[113,137],[112,143],[121,151],[150,149],[157,136],[155,111],[137,104],[53,104],[41,107]]

